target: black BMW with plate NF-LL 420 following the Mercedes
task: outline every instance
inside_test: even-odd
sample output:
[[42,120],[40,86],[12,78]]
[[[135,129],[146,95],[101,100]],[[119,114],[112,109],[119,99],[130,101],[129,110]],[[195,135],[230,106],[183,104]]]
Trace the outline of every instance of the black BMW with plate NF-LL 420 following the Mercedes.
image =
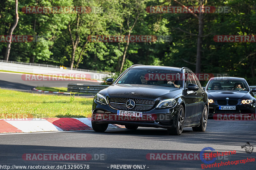
[[214,114],[255,114],[255,98],[244,78],[211,78],[205,86],[209,116]]

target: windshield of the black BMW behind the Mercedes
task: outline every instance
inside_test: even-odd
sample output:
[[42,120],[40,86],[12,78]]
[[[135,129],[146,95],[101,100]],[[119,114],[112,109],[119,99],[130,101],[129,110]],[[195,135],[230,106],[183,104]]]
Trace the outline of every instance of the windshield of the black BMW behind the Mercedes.
[[211,80],[206,90],[242,90],[249,88],[244,80]]

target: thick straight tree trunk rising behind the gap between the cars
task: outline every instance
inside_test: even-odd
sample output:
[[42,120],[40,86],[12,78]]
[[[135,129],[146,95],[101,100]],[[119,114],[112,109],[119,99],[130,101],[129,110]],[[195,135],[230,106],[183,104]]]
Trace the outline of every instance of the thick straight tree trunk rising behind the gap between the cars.
[[201,71],[203,13],[199,13],[198,21],[199,21],[199,25],[198,25],[197,49],[196,49],[196,73],[200,73],[200,71]]

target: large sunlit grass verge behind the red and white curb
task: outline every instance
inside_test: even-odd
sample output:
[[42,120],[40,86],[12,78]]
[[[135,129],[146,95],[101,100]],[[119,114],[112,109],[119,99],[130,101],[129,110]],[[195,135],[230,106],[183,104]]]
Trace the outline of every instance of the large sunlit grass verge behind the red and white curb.
[[91,117],[92,100],[0,89],[0,118]]

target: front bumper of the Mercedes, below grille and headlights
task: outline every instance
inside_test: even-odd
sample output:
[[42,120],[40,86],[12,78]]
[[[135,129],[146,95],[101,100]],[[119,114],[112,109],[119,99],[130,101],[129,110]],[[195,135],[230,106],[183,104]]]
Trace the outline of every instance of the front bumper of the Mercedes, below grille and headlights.
[[117,109],[93,100],[92,122],[172,129],[176,128],[176,124],[173,122],[176,122],[179,107],[179,104],[164,109],[154,107],[149,111],[138,111],[143,112],[142,117],[132,117],[117,115]]

